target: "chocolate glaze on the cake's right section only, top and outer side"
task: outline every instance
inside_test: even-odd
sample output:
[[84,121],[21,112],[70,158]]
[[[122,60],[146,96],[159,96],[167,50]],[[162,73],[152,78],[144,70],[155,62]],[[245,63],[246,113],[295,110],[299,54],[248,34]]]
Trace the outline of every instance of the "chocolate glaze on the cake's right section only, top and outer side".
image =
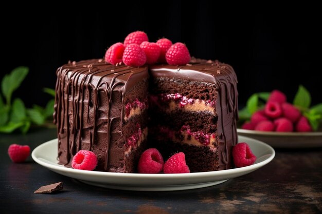
[[231,149],[237,144],[238,92],[234,69],[219,61],[192,59],[184,66],[155,65],[150,67],[153,78],[168,77],[214,84],[218,89],[215,111],[218,115],[219,168],[231,167]]

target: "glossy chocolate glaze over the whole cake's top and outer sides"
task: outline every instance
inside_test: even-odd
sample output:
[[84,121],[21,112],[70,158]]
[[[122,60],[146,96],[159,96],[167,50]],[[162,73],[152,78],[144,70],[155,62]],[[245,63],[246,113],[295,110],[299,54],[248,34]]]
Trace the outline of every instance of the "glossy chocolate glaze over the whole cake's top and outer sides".
[[[221,169],[229,168],[231,147],[237,143],[238,93],[234,69],[218,61],[192,59],[185,66],[154,65],[150,71],[154,78],[173,77],[216,85],[219,164],[224,166]],[[70,164],[78,150],[92,150],[96,146],[103,150],[98,155],[104,163],[97,170],[118,171],[109,166],[117,165],[124,155],[120,145],[113,142],[123,138],[126,92],[148,78],[148,68],[87,60],[60,67],[57,76],[53,117],[58,128],[59,163]],[[109,157],[109,153],[113,155]]]

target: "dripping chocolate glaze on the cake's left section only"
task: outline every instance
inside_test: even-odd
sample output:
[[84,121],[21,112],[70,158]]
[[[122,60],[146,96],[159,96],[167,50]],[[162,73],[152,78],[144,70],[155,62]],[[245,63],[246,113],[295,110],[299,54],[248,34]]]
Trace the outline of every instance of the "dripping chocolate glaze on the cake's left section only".
[[122,159],[110,158],[109,153],[121,155],[115,152],[119,145],[111,147],[110,143],[123,138],[126,93],[148,78],[147,67],[114,66],[98,59],[68,63],[56,73],[53,118],[57,124],[59,163],[70,164],[80,149],[102,146],[104,151],[97,154],[99,162],[104,162],[101,170],[110,170],[108,166],[113,163],[109,162]]

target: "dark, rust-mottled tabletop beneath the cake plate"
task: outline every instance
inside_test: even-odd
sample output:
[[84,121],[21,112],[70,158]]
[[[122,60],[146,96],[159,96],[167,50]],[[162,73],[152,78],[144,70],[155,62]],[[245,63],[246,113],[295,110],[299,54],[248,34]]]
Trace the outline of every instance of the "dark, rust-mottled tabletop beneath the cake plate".
[[[137,192],[80,183],[40,166],[31,155],[22,164],[8,157],[10,144],[33,150],[55,138],[56,129],[45,128],[0,134],[0,213],[322,213],[322,148],[275,149],[271,163],[212,187]],[[62,191],[33,193],[60,181]]]

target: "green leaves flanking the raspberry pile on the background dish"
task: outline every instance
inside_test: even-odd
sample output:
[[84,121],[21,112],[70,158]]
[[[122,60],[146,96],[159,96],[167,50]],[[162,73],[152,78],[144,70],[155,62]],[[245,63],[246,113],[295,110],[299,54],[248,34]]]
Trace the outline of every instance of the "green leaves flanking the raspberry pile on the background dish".
[[[265,103],[269,99],[270,92],[254,93],[247,100],[246,106],[239,110],[239,123],[249,121],[254,112],[264,108]],[[311,106],[311,94],[302,85],[298,87],[297,93],[293,100],[295,105],[304,116],[309,120],[313,130],[317,130],[322,122],[322,103]]]

